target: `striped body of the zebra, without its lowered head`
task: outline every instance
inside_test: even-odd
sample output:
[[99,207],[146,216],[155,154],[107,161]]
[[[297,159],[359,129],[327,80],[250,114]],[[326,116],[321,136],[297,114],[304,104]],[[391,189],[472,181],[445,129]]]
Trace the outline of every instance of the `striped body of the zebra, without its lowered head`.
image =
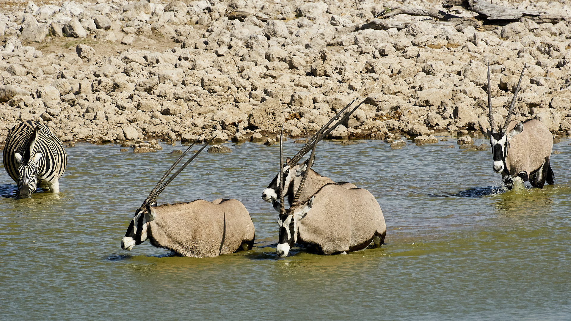
[[[30,153],[30,144],[34,140],[35,129],[39,129],[38,138]],[[30,178],[20,177],[15,153],[22,155],[23,164],[26,164],[35,153],[42,153],[36,168],[38,187],[47,187],[48,182],[59,179],[66,170],[67,155],[63,145],[44,123],[21,122],[10,129],[6,137],[6,146],[2,155],[4,168],[8,175],[18,183],[18,187],[21,187],[22,181]],[[32,172],[26,171],[26,174],[31,175]]]

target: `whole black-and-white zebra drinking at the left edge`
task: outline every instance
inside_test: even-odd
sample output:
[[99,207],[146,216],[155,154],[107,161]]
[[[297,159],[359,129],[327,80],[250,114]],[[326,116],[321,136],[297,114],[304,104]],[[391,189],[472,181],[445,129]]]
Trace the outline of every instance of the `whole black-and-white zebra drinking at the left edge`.
[[37,187],[59,192],[58,179],[66,170],[63,145],[41,122],[21,122],[10,129],[2,155],[4,168],[18,183],[19,198],[30,198]]

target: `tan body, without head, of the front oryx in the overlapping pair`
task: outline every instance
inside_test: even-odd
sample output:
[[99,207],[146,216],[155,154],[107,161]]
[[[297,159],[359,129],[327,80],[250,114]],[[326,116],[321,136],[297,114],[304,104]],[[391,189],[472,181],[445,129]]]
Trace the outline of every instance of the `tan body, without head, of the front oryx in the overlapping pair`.
[[329,183],[295,211],[297,242],[322,254],[358,251],[383,243],[387,226],[375,196],[363,188]]

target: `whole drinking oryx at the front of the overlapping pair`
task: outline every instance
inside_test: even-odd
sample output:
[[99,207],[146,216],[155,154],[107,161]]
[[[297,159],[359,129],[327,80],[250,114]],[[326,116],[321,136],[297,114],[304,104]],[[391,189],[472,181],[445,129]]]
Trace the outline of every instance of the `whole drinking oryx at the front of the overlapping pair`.
[[[307,202],[297,207],[313,163],[316,145],[317,142],[313,145],[311,156],[306,162],[307,168],[287,212],[280,192],[276,254],[287,256],[296,242],[305,244],[319,254],[345,254],[348,251],[363,250],[369,245],[379,247],[387,232],[383,211],[375,196],[363,188],[345,188],[340,184],[327,183],[311,195]],[[280,146],[280,165],[282,159]],[[280,171],[283,171],[282,166]],[[283,180],[280,179],[278,184],[282,186]],[[275,199],[272,201],[278,203]]]

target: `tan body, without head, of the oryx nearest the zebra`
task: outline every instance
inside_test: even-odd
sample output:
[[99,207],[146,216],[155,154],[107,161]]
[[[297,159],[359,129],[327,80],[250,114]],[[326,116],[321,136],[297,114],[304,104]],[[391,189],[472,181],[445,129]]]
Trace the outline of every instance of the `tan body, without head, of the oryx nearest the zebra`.
[[155,219],[147,223],[151,244],[179,255],[206,258],[250,250],[254,244],[254,223],[236,199],[197,199],[151,210],[155,212]]

